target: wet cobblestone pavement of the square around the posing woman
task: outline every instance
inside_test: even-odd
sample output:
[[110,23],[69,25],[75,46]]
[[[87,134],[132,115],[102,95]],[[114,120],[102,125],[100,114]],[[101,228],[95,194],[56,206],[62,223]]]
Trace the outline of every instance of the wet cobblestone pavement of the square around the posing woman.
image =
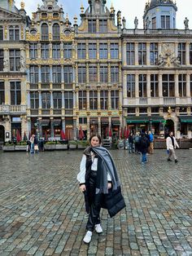
[[192,151],[177,150],[175,164],[158,150],[145,166],[111,154],[126,209],[102,210],[103,234],[85,245],[82,151],[0,152],[0,255],[192,255]]

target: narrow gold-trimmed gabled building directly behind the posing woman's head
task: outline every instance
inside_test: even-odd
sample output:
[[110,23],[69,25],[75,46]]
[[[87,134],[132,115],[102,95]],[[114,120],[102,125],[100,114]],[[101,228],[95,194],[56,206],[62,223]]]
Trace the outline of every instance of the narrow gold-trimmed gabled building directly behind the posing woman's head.
[[81,24],[75,25],[76,127],[89,137],[119,135],[122,125],[121,18],[106,7],[106,0],[81,7]]

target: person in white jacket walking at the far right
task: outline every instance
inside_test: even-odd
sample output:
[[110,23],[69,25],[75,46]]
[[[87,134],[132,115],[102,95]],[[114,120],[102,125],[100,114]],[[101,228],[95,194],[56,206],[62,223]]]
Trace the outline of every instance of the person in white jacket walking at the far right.
[[173,157],[175,160],[175,163],[177,163],[178,160],[176,157],[175,149],[179,148],[179,145],[177,143],[177,140],[173,136],[172,131],[169,131],[168,133],[168,137],[166,139],[166,145],[167,145],[167,151],[168,151],[168,161],[172,161],[171,157]]

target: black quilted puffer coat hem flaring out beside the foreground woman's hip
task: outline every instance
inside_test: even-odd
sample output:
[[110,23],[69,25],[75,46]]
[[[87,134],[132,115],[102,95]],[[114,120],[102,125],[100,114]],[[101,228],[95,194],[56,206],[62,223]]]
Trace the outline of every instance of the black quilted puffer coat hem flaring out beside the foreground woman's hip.
[[122,196],[120,186],[116,190],[109,189],[108,194],[105,194],[105,205],[110,217],[115,216],[120,210],[124,209],[125,202],[124,196]]

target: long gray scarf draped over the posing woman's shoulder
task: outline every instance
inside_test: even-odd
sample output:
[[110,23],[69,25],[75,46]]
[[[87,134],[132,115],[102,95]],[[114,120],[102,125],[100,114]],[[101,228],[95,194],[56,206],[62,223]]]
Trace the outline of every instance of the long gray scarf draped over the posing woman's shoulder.
[[112,190],[116,190],[120,186],[120,181],[118,179],[116,166],[110,152],[103,147],[91,147],[91,150],[101,159],[101,162],[98,164],[98,182],[96,194],[108,193],[107,173],[109,173],[111,176]]

